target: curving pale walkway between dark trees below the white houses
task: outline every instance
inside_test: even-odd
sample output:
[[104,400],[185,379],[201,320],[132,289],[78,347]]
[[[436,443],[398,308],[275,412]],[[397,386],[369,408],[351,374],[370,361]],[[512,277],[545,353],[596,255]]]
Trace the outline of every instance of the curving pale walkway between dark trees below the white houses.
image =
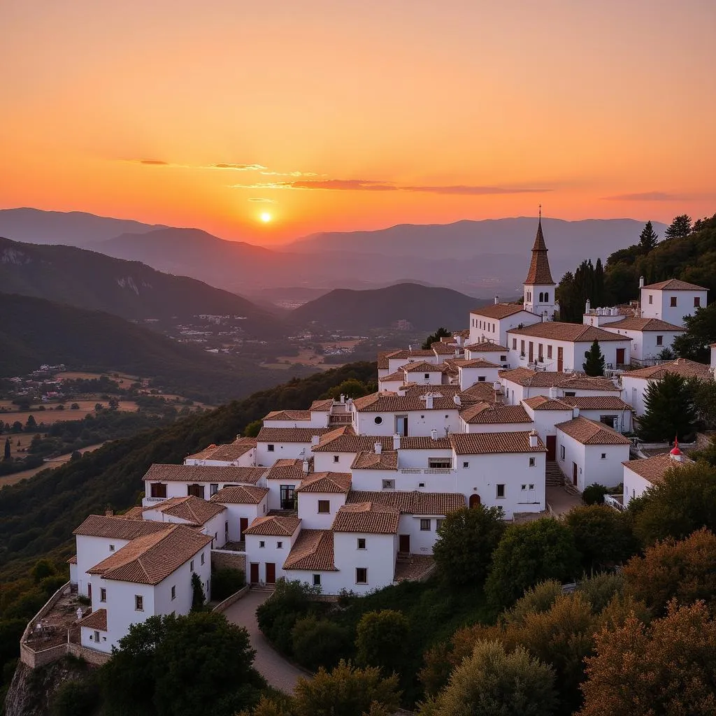
[[269,640],[261,634],[256,623],[256,609],[271,596],[270,591],[257,591],[250,589],[243,599],[234,602],[224,615],[228,621],[246,627],[248,636],[251,639],[251,647],[256,649],[256,659],[253,666],[261,676],[269,682],[274,689],[279,689],[286,694],[292,694],[299,677],[309,678],[308,672],[281,657],[279,652],[271,647]]

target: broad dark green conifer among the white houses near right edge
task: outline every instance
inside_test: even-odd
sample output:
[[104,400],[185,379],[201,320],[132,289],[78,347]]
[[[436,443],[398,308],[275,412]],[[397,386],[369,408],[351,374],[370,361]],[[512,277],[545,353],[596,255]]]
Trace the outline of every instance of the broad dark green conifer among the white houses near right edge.
[[690,384],[677,373],[649,382],[644,392],[644,415],[637,433],[644,442],[687,442],[696,427],[696,409]]

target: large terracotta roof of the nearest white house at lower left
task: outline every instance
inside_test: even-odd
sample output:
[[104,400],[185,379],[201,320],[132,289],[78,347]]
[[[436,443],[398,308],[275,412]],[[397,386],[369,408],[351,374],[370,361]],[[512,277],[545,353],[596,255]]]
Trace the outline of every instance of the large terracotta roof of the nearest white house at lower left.
[[172,525],[154,535],[137,537],[87,574],[135,584],[159,584],[211,543],[211,537],[185,525]]

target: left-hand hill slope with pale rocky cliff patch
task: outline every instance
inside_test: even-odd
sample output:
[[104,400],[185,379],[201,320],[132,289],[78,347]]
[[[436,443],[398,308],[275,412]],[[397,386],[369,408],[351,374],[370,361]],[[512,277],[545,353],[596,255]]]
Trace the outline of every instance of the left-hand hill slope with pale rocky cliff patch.
[[233,314],[247,317],[249,333],[281,332],[273,316],[241,296],[186,276],[162,274],[138,261],[72,246],[34,246],[0,238],[0,286],[7,293],[107,311],[125,319]]

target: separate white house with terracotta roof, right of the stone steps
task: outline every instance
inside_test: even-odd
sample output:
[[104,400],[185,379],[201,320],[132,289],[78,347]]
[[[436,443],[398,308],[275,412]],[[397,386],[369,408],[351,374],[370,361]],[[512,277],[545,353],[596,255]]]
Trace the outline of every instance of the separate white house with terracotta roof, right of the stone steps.
[[557,463],[579,492],[589,485],[613,488],[621,483],[621,463],[629,460],[632,444],[624,435],[604,423],[581,416],[555,427]]

